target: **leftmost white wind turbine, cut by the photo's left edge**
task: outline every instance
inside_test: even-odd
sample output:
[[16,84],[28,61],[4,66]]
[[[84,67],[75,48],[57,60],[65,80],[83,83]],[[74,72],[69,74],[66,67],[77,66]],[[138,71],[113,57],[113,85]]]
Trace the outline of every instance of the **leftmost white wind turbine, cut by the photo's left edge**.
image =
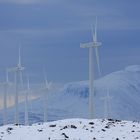
[[3,102],[3,124],[7,124],[7,94],[8,94],[8,87],[11,85],[9,82],[8,71],[6,70],[6,82],[1,83],[1,86],[4,87],[4,102]]

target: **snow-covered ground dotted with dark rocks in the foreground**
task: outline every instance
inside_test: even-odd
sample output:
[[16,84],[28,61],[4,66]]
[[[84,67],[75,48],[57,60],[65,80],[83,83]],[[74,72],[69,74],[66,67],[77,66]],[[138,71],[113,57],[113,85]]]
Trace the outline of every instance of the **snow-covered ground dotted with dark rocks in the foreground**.
[[0,127],[1,140],[140,140],[140,123],[67,119],[32,126]]

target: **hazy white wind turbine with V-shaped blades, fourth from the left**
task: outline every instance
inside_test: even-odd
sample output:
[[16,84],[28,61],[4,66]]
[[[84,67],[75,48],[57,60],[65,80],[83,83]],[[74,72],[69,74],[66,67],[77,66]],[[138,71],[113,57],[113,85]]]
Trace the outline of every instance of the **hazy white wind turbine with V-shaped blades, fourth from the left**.
[[50,87],[52,86],[52,82],[48,82],[47,80],[47,75],[44,71],[44,77],[45,77],[45,93],[44,93],[44,122],[47,122],[47,95],[48,95],[48,92],[50,90]]

